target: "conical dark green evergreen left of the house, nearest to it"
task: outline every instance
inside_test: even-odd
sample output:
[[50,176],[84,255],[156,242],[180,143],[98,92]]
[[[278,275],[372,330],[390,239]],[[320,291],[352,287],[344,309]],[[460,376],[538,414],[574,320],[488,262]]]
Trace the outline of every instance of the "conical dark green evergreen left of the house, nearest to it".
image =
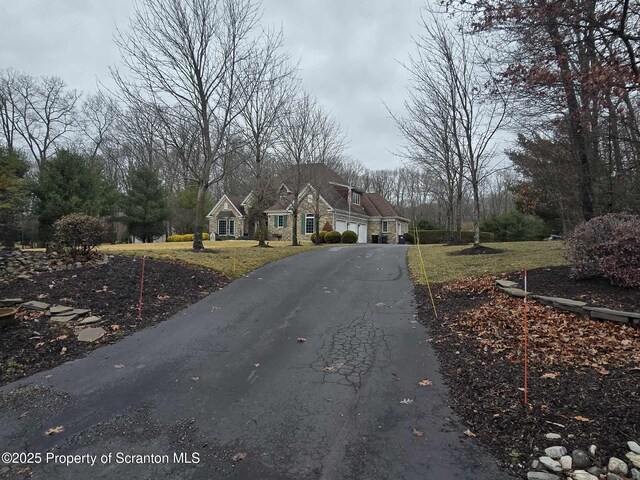
[[144,243],[151,243],[164,233],[164,223],[169,218],[167,194],[150,166],[129,168],[124,214],[129,233]]

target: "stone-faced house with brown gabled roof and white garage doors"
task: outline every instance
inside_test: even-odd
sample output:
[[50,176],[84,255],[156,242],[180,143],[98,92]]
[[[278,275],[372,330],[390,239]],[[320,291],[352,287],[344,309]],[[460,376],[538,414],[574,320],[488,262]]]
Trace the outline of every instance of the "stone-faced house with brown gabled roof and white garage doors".
[[[300,241],[311,240],[316,222],[318,230],[327,225],[340,233],[353,230],[358,234],[358,243],[398,243],[399,236],[409,229],[409,220],[400,216],[384,197],[348,185],[324,165],[306,165],[297,181],[299,188],[295,189],[285,179],[278,192],[279,198],[264,211],[270,239],[291,241],[292,207],[296,203]],[[292,191],[298,191],[298,194]],[[253,238],[256,225],[250,225],[248,221],[251,196],[222,196],[207,215],[211,238]]]

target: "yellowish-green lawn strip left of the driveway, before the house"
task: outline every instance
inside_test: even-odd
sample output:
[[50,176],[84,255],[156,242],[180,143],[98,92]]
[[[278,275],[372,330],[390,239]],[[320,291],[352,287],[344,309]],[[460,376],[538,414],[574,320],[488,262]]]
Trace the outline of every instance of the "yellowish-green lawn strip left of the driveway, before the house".
[[289,242],[269,242],[271,248],[256,247],[257,242],[247,240],[225,240],[204,242],[207,249],[215,253],[196,253],[191,242],[134,243],[123,245],[102,245],[100,252],[118,255],[146,255],[160,260],[173,260],[199,267],[209,268],[235,279],[246,275],[258,267],[290,255],[322,248],[311,243],[292,247]]

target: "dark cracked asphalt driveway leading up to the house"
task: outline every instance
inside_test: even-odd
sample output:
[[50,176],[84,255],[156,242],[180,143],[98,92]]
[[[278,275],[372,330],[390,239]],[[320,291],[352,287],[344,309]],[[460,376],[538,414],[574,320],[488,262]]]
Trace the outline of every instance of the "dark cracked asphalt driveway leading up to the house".
[[[0,450],[42,460],[0,462],[0,477],[512,478],[448,406],[406,252],[358,245],[289,257],[154,328],[6,385]],[[78,457],[66,465],[64,455]]]

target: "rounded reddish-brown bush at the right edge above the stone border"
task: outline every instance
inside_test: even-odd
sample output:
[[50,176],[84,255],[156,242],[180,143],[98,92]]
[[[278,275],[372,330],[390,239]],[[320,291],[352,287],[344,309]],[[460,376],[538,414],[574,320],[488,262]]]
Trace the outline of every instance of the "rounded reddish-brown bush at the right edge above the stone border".
[[576,227],[567,246],[574,277],[604,277],[614,285],[640,287],[640,216],[596,217]]

